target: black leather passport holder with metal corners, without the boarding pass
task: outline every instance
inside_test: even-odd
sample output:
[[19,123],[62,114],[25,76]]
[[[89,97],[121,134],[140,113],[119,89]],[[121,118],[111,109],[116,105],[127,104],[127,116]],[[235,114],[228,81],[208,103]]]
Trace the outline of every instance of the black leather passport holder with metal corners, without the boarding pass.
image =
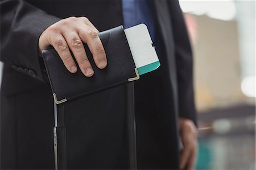
[[100,32],[98,36],[104,46],[108,65],[105,69],[97,68],[92,53],[85,44],[86,54],[94,70],[92,77],[85,77],[79,68],[76,73],[70,73],[53,47],[42,51],[53,97],[57,104],[138,80],[139,74],[123,27]]

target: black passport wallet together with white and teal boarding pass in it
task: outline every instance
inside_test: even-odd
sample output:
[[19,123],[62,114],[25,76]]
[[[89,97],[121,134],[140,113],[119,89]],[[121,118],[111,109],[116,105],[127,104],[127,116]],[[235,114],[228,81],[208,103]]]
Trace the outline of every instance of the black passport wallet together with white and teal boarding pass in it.
[[42,51],[56,104],[137,81],[140,75],[154,71],[160,65],[144,24],[126,30],[123,26],[118,26],[99,32],[98,36],[104,46],[108,65],[104,69],[97,68],[92,53],[84,44],[94,70],[92,77],[85,77],[79,68],[76,73],[70,73],[53,47]]

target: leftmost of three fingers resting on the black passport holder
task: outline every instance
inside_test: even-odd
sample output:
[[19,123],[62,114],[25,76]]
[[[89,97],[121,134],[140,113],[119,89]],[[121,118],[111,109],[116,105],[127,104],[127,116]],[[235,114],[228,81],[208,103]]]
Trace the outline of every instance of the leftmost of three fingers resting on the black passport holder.
[[49,44],[55,48],[68,71],[71,73],[77,72],[76,63],[71,56],[64,37],[61,34],[52,34],[49,36]]

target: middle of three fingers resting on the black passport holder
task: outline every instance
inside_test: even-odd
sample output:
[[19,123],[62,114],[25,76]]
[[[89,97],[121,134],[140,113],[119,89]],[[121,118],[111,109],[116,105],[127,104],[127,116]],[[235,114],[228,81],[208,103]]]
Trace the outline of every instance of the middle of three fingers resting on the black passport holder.
[[94,71],[92,69],[92,65],[90,65],[88,57],[86,56],[84,44],[82,43],[82,40],[80,39],[76,30],[63,32],[63,35],[67,40],[69,48],[71,49],[71,51],[73,52],[73,55],[75,56],[77,64],[79,64],[79,68],[81,69],[81,72],[86,77],[93,76]]

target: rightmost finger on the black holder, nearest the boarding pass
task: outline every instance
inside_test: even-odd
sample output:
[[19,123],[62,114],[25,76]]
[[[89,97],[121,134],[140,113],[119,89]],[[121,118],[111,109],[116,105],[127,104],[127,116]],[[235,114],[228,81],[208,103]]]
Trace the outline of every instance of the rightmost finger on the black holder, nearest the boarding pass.
[[107,65],[106,53],[97,30],[84,26],[84,28],[80,28],[78,31],[80,38],[88,45],[90,52],[92,52],[93,60],[97,67],[100,69],[105,68]]

